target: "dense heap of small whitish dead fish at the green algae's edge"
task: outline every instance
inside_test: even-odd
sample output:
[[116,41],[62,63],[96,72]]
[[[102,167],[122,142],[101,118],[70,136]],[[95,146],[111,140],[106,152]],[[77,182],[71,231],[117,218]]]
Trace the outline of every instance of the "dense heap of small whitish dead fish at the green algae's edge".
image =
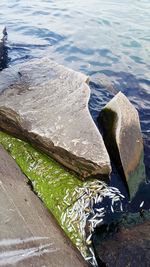
[[[68,226],[71,225],[72,228],[78,229],[80,236],[85,240],[85,246],[88,248],[88,253],[83,249],[80,251],[88,262],[92,266],[98,266],[94,251],[92,248],[92,234],[95,228],[103,223],[104,216],[106,215],[105,207],[94,207],[100,204],[104,198],[109,198],[111,200],[110,209],[112,212],[115,211],[113,206],[119,204],[120,211],[123,211],[122,199],[124,196],[115,187],[109,187],[106,183],[100,180],[93,180],[91,182],[87,181],[84,183],[84,187],[76,188],[73,197],[77,196],[77,201],[73,204],[70,209],[66,210],[65,218],[67,221],[64,222],[64,215],[62,216],[62,223],[66,223]],[[118,206],[117,206],[118,207]],[[85,228],[88,226],[88,236],[86,234]]]

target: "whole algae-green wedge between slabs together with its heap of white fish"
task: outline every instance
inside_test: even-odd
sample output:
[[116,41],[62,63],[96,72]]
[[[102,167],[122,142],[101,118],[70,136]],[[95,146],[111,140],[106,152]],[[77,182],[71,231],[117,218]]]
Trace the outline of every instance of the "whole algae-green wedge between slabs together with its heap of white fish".
[[95,214],[93,206],[109,195],[113,203],[120,201],[120,192],[97,179],[81,181],[75,173],[64,169],[30,144],[1,131],[0,143],[32,182],[34,191],[84,258],[97,266],[90,238],[95,227],[103,223],[105,209],[103,207]]

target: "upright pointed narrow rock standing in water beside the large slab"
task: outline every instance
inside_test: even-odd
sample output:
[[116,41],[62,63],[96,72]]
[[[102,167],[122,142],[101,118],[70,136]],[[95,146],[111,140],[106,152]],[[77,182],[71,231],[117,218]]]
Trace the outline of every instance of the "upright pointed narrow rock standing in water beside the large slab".
[[102,110],[99,122],[110,157],[128,184],[132,198],[145,179],[143,140],[137,110],[119,92]]

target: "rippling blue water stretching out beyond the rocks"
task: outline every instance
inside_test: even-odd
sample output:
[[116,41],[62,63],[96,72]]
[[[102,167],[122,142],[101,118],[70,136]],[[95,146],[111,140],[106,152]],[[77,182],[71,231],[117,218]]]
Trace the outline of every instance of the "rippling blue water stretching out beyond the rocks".
[[[1,0],[0,24],[8,31],[9,65],[49,56],[91,77],[95,121],[118,91],[130,99],[140,115],[150,181],[150,1]],[[150,207],[149,192],[150,184],[141,186],[134,210],[143,200]]]

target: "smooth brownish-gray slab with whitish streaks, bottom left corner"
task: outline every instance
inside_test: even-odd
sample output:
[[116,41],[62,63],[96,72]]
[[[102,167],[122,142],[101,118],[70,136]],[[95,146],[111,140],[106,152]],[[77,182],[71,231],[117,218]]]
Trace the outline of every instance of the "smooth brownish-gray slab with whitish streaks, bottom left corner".
[[87,266],[1,146],[0,203],[1,267]]

